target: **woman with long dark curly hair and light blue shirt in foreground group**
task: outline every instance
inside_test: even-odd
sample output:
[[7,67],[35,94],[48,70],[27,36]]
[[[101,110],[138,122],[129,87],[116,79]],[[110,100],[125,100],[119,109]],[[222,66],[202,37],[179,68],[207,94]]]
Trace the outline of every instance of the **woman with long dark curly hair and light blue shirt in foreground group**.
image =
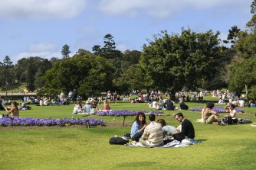
[[132,140],[139,142],[139,138],[143,135],[144,129],[146,127],[146,116],[144,113],[139,112],[136,115],[135,122],[133,123],[130,136]]

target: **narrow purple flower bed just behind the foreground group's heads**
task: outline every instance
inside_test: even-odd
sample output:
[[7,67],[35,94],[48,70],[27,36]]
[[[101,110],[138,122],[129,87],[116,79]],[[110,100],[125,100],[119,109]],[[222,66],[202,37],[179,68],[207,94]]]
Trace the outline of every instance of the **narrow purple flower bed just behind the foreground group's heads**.
[[127,111],[127,110],[121,110],[121,111],[98,111],[98,116],[116,116],[116,117],[122,117],[122,116],[135,116],[139,112],[143,112],[144,114],[163,114],[162,111]]

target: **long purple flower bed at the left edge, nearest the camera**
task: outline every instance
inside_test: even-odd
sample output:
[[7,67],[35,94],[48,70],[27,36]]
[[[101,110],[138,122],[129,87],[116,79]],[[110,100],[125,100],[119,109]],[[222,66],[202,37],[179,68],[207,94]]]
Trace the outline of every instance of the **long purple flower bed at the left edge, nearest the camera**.
[[72,118],[64,118],[64,119],[51,119],[51,118],[44,118],[44,119],[36,119],[32,117],[21,117],[18,119],[12,120],[10,118],[2,118],[0,119],[0,126],[1,127],[7,127],[10,125],[13,126],[70,126],[70,125],[86,125],[87,122],[90,124],[90,126],[96,126],[96,125],[104,125],[105,123],[103,120],[100,119],[72,119]]

